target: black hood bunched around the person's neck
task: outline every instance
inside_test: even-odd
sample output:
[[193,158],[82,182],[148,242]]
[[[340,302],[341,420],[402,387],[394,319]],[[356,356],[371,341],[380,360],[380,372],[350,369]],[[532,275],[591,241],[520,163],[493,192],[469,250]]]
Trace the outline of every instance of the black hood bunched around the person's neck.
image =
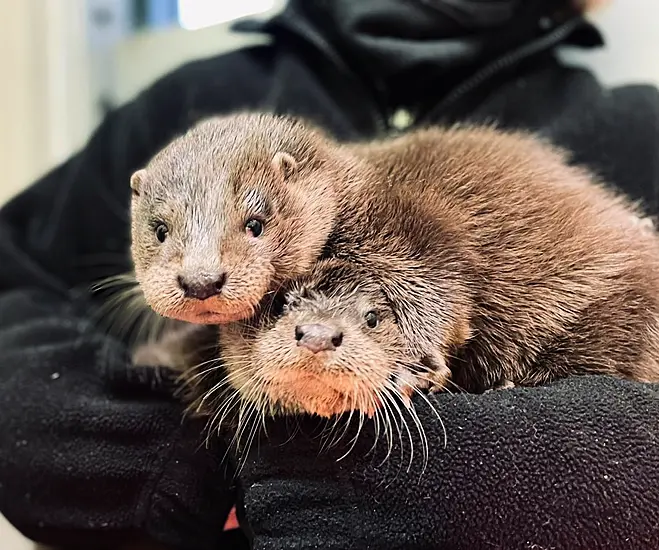
[[302,39],[396,94],[430,83],[446,91],[564,25],[569,28],[555,33],[548,48],[603,44],[568,0],[289,0],[270,20],[234,28]]

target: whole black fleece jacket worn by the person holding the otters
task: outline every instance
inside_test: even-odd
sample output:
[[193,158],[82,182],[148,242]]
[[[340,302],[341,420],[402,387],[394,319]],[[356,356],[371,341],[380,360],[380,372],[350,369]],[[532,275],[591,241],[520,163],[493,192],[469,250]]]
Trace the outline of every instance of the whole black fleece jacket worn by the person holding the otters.
[[[221,532],[237,492],[222,443],[207,448],[199,423],[144,391],[146,374],[129,374],[125,342],[94,322],[89,292],[130,268],[130,173],[199,118],[267,109],[339,139],[393,131],[401,107],[416,125],[496,121],[549,137],[657,212],[659,94],[603,89],[560,64],[558,45],[601,41],[560,2],[497,2],[510,10],[490,12],[492,28],[471,0],[368,2],[366,15],[361,2],[337,0],[331,13],[332,3],[291,2],[261,27],[271,44],[166,75],[0,212],[0,512],[28,537],[103,548],[146,533],[180,549],[238,547]],[[262,445],[241,476],[254,545],[659,545],[656,388],[583,378],[439,405],[448,447],[431,453],[421,481],[403,469],[378,484],[357,459],[303,460],[305,441],[286,460]],[[436,444],[441,425],[423,420]]]

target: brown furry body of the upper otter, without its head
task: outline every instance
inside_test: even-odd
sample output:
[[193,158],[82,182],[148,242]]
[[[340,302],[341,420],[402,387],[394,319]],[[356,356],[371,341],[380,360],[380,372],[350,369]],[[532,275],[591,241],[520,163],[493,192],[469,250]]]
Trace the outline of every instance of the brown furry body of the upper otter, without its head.
[[659,380],[659,246],[623,198],[549,145],[491,128],[358,152],[391,185],[341,209],[331,253],[381,274],[414,349],[443,343],[456,383]]

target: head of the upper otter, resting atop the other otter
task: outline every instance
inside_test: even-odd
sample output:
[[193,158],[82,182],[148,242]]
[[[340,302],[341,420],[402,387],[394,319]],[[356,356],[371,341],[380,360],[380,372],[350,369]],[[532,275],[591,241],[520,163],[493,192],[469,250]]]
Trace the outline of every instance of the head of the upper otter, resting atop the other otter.
[[223,324],[306,273],[334,220],[330,147],[294,119],[237,114],[198,124],[133,174],[132,256],[147,303]]

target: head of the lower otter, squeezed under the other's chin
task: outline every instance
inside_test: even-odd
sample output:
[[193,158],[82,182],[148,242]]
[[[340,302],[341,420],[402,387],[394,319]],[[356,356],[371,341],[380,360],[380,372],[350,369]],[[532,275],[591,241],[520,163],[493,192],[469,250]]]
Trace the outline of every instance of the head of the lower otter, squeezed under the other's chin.
[[228,382],[264,414],[373,415],[409,400],[415,364],[378,284],[322,260],[284,293],[275,314],[223,327]]

